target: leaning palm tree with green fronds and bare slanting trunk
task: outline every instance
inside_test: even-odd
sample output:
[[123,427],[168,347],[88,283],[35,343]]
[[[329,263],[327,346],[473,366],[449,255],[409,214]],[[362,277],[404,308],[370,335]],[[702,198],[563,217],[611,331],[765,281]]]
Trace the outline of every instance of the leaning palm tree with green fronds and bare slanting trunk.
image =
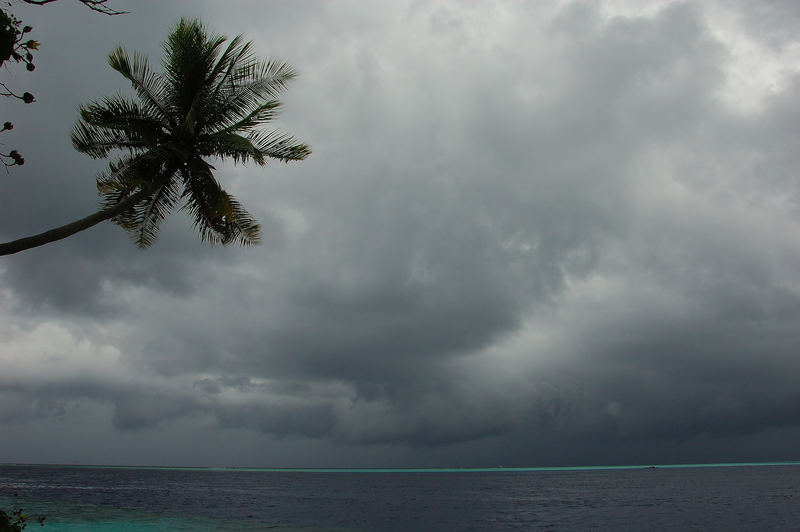
[[208,35],[197,20],[181,20],[164,43],[164,73],[122,48],[108,58],[130,81],[136,99],[103,98],[80,109],[75,149],[92,158],[122,156],[97,178],[98,212],[44,233],[0,244],[0,255],[41,246],[113,220],[141,248],[158,236],[179,203],[200,238],[223,245],[255,244],[258,222],[225,192],[207,158],[234,163],[305,159],[311,150],[293,137],[259,128],[277,114],[276,95],[296,76],[286,63],[259,60],[252,43]]

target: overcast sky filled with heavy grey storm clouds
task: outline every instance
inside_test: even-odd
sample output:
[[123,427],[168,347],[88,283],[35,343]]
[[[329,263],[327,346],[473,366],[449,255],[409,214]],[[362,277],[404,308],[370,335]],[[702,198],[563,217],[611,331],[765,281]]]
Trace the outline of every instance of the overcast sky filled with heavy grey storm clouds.
[[81,103],[181,16],[300,76],[309,159],[219,164],[261,222],[0,258],[0,462],[800,459],[800,3],[15,5],[0,239],[97,206]]

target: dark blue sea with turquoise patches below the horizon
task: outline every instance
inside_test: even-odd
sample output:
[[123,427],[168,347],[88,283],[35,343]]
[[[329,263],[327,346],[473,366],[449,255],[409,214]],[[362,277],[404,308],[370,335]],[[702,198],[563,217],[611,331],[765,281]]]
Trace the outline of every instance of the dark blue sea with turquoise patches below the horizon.
[[[16,495],[15,495],[16,494]],[[800,462],[280,470],[0,465],[48,531],[800,530]],[[35,520],[27,530],[40,530]]]

